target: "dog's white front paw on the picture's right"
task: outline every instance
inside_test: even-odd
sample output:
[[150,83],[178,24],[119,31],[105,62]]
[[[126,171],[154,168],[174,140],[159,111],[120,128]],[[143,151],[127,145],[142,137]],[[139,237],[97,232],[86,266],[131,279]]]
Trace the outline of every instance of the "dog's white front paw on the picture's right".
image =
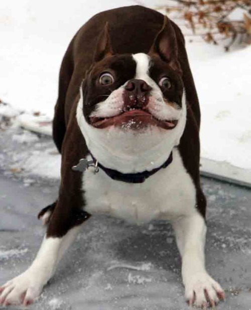
[[189,305],[207,309],[207,304],[214,307],[219,299],[225,299],[225,293],[219,283],[203,272],[187,279],[185,297]]

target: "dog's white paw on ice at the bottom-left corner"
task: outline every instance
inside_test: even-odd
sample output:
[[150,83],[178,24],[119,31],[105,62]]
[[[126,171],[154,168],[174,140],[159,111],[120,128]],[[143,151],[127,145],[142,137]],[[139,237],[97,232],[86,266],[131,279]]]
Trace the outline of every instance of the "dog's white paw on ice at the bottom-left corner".
[[0,305],[29,305],[40,295],[43,285],[29,269],[0,286]]

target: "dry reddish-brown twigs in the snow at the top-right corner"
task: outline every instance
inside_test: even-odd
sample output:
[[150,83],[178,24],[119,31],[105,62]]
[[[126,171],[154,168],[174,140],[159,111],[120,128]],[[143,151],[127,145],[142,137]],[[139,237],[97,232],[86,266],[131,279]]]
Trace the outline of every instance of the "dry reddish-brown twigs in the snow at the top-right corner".
[[179,25],[183,20],[185,35],[192,32],[213,44],[228,40],[226,51],[237,38],[238,43],[251,44],[251,0],[171,0],[159,9]]

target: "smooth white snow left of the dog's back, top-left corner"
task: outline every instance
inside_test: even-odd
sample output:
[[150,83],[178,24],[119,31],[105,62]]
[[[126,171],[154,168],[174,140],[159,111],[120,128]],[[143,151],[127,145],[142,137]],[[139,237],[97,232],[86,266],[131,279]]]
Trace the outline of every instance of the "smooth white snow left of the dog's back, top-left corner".
[[59,67],[70,40],[94,14],[119,4],[135,2],[1,1],[0,98],[52,116]]

